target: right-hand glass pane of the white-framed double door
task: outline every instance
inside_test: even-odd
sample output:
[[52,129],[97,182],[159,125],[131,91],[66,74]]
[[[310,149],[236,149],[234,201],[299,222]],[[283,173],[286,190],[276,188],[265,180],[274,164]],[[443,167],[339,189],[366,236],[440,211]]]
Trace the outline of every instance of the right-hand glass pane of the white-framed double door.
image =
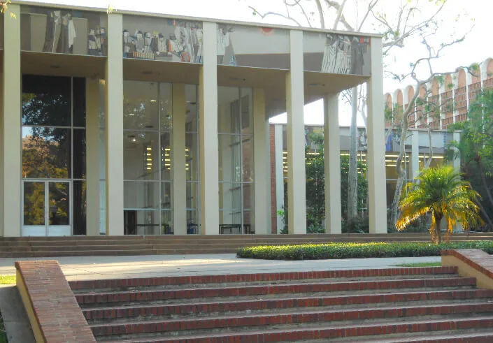
[[69,182],[48,182],[49,184],[49,224],[70,225],[70,187]]

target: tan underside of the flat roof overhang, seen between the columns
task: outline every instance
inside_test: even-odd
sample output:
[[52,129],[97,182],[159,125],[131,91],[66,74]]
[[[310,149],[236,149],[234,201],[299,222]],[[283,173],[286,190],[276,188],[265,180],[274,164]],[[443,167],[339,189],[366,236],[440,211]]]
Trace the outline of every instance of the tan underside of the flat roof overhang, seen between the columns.
[[[3,64],[0,64],[3,66]],[[22,52],[22,73],[35,75],[104,78],[106,57],[45,52]],[[201,64],[124,59],[124,80],[199,84]],[[286,111],[286,75],[288,71],[241,66],[217,66],[217,85],[224,87],[252,87],[265,91],[266,116],[273,117]],[[350,89],[369,80],[364,75],[343,75],[304,72],[305,103]]]

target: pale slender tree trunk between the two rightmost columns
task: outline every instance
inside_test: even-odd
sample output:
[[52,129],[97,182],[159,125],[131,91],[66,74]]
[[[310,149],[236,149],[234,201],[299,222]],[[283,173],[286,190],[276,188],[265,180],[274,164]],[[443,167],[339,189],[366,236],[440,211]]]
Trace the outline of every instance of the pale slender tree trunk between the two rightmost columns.
[[358,87],[351,90],[351,126],[349,133],[348,221],[358,215]]

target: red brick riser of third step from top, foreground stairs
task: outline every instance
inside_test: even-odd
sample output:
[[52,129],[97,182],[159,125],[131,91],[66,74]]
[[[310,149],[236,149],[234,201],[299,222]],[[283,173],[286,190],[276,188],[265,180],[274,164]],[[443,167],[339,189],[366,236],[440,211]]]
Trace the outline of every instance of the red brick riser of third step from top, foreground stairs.
[[422,293],[398,293],[383,295],[355,295],[355,296],[337,296],[321,298],[304,298],[292,300],[251,300],[238,302],[211,302],[208,304],[177,304],[166,306],[143,306],[143,307],[118,307],[113,309],[83,309],[87,321],[108,321],[110,319],[124,318],[145,318],[155,319],[157,316],[192,316],[201,314],[207,316],[218,313],[243,313],[252,311],[273,311],[289,310],[313,307],[329,306],[352,306],[352,305],[369,305],[385,304],[399,302],[419,302],[419,301],[443,301],[443,300],[468,300],[480,298],[493,298],[493,291],[489,290],[471,290],[471,291],[450,291],[450,292],[422,292]]

